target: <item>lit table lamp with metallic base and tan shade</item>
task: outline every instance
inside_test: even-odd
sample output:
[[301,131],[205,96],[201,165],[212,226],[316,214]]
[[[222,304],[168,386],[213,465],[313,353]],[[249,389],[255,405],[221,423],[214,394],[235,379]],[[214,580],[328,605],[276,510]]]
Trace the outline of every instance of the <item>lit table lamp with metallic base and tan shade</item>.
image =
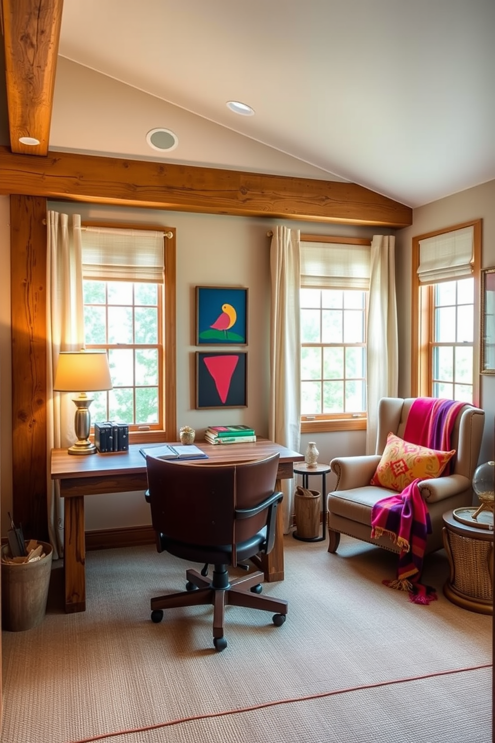
[[[55,392],[99,392],[112,389],[108,356],[105,351],[61,351],[56,368],[53,390]],[[94,454],[96,447],[89,440],[91,430],[91,413],[89,406],[93,398],[81,392],[79,398],[73,398],[76,404],[74,430],[77,441],[68,448],[69,454]]]

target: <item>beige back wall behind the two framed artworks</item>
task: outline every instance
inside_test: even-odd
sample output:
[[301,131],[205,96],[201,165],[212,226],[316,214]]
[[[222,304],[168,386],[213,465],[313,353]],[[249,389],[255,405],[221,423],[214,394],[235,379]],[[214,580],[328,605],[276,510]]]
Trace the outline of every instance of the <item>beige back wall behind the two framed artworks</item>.
[[[84,204],[50,204],[50,208],[77,212],[83,219],[160,224],[177,229],[177,425],[189,424],[198,435],[209,424],[251,424],[268,435],[270,273],[268,230],[278,224],[263,218],[228,217],[155,210],[126,210]],[[370,237],[373,227],[283,224],[319,235]],[[248,407],[229,410],[194,409],[194,288],[232,285],[249,288]],[[306,448],[306,438],[301,447]],[[321,437],[322,461],[345,450],[358,453],[364,434]],[[91,530],[148,524],[149,507],[142,493],[86,499],[86,528]]]

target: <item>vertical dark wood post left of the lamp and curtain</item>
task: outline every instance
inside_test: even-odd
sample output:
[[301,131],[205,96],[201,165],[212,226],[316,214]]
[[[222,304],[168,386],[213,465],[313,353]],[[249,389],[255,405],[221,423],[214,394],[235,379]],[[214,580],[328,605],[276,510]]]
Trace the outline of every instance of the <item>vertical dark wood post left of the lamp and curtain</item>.
[[48,536],[46,213],[44,198],[10,198],[13,518],[26,539]]

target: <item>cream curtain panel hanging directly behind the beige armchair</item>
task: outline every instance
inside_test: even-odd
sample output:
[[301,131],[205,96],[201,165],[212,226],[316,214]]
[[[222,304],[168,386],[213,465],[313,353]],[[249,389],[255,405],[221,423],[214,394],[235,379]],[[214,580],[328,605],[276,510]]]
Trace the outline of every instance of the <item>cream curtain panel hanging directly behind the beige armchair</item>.
[[399,390],[394,236],[375,235],[371,242],[370,297],[367,320],[366,453],[374,454],[378,431],[378,400],[395,398]]

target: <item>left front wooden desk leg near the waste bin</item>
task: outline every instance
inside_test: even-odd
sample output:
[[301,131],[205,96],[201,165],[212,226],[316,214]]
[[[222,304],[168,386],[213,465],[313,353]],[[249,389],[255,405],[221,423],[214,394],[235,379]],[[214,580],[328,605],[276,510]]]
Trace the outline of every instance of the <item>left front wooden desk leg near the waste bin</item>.
[[64,501],[65,612],[86,610],[84,496]]

